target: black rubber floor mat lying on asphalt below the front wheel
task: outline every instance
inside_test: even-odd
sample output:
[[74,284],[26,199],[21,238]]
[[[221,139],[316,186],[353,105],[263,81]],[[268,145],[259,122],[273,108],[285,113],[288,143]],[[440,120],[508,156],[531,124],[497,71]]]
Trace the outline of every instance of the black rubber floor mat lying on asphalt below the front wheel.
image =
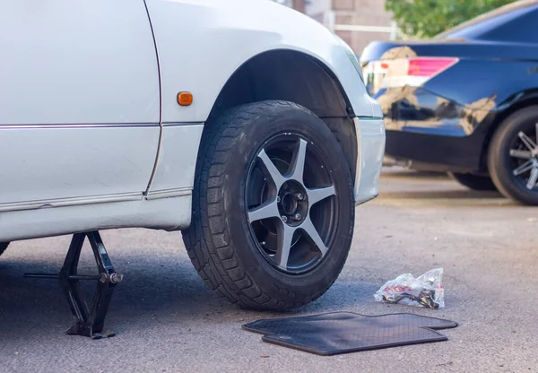
[[413,314],[364,316],[336,312],[317,316],[258,320],[243,325],[265,334],[262,340],[293,349],[336,355],[376,350],[406,344],[447,341],[434,329],[456,327],[457,323]]

